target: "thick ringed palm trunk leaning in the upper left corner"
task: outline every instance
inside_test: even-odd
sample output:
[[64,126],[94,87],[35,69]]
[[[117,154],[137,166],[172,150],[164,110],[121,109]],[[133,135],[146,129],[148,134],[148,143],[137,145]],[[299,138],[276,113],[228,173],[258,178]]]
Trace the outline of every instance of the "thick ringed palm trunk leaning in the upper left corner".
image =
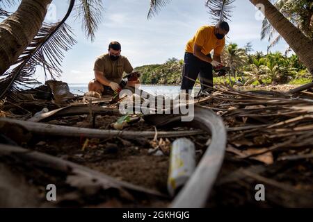
[[0,76],[13,65],[37,35],[52,0],[22,0],[0,24]]

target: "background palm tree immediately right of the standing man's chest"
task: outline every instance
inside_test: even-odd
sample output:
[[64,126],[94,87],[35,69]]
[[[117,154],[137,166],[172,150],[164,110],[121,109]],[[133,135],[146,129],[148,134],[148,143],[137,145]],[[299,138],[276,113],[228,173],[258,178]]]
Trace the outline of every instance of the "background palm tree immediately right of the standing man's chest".
[[232,76],[236,78],[236,71],[239,71],[248,62],[248,56],[245,49],[239,49],[235,43],[225,46],[222,53],[223,64],[230,67]]

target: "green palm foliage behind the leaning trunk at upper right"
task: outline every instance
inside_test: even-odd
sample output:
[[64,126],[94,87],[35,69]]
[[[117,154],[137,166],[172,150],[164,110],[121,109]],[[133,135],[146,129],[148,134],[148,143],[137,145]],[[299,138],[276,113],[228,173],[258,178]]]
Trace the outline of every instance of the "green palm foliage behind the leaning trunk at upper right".
[[[280,10],[284,17],[287,17],[307,37],[313,39],[313,1],[311,0],[277,0],[274,6]],[[268,36],[268,49],[278,44],[282,39],[276,35],[275,28],[264,18],[261,32],[261,40]]]

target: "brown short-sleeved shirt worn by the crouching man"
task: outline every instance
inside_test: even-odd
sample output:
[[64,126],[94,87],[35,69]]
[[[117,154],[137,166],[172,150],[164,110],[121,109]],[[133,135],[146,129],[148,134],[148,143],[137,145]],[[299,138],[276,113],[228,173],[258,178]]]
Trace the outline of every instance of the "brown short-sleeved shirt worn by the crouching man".
[[120,56],[118,60],[112,61],[109,54],[104,54],[97,58],[93,70],[101,71],[108,80],[120,83],[123,73],[129,74],[134,69],[125,56]]

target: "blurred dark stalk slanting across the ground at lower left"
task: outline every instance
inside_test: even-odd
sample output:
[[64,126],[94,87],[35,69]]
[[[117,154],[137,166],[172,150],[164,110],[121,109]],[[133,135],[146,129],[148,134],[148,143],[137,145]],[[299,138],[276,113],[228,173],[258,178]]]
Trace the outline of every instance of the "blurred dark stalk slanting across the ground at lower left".
[[37,151],[29,151],[28,149],[21,148],[18,146],[8,146],[0,144],[0,156],[10,156],[15,157],[22,162],[31,162],[38,167],[45,167],[54,169],[56,171],[61,171],[67,173],[67,175],[77,175],[83,178],[88,178],[90,181],[97,183],[97,185],[102,185],[102,188],[107,189],[110,187],[116,189],[128,189],[131,191],[137,191],[145,194],[150,194],[153,196],[159,196],[166,198],[167,196],[161,194],[159,191],[154,191],[152,189],[146,189],[136,185],[132,185],[129,182],[123,182],[106,176],[104,173],[100,173],[88,167],[83,167],[79,164],[63,160],[58,157],[47,155],[45,153],[40,153]]

